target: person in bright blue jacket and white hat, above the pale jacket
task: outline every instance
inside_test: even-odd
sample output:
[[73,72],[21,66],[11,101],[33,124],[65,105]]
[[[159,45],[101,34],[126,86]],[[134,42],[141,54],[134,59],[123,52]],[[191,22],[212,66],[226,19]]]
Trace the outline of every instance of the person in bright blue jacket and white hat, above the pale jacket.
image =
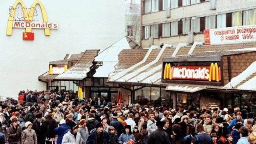
[[59,126],[54,129],[54,133],[58,135],[57,144],[61,144],[62,138],[66,130],[68,129],[70,129],[70,127],[66,125],[65,120],[64,119],[60,120]]

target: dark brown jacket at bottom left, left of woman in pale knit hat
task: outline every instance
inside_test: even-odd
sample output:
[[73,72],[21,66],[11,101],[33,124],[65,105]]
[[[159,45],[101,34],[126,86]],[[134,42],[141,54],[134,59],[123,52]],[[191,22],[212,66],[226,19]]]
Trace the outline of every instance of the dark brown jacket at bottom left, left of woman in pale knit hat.
[[15,132],[13,124],[7,130],[8,143],[9,144],[21,144],[21,128],[17,125],[17,130]]

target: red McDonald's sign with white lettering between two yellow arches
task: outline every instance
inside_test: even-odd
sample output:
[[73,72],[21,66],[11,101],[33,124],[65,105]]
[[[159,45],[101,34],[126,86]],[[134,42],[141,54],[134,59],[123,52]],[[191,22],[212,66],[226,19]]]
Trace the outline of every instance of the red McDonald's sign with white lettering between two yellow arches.
[[218,63],[211,63],[210,66],[171,66],[164,65],[164,80],[199,80],[209,82],[220,82],[221,73]]

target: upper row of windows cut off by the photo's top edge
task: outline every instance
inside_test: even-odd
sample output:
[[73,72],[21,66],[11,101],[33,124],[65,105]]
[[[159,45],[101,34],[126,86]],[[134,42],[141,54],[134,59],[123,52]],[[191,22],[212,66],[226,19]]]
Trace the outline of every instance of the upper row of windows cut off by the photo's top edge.
[[178,8],[190,4],[196,4],[209,0],[145,0],[143,1],[143,14],[158,12],[167,8]]

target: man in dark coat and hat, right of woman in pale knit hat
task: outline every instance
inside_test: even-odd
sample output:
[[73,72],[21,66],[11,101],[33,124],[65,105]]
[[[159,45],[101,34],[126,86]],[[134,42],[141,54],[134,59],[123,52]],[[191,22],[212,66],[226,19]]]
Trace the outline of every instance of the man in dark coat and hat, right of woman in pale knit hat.
[[36,120],[33,122],[32,129],[36,131],[37,143],[38,144],[45,144],[45,132],[42,130],[42,120],[43,115],[37,114]]

